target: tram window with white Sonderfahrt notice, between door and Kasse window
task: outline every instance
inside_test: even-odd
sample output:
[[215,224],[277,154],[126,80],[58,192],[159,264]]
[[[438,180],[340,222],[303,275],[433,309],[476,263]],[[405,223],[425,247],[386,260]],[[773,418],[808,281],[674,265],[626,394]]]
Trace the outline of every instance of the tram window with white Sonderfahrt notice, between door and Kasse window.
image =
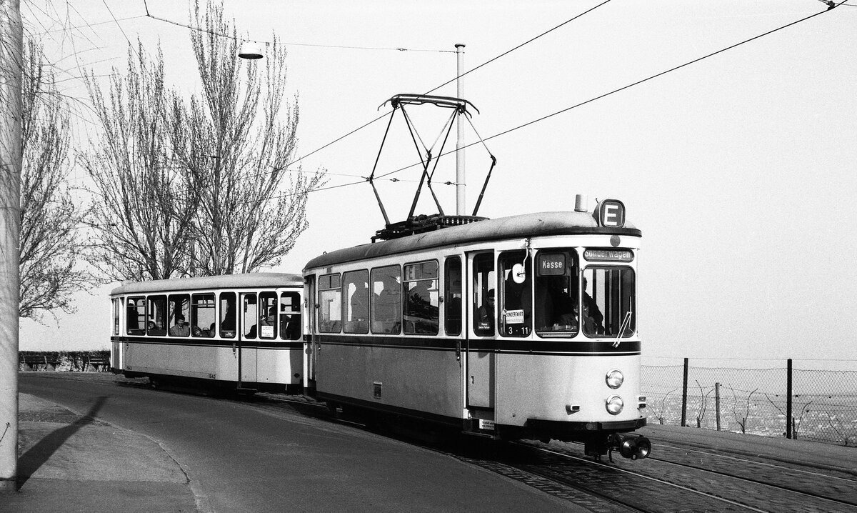
[[500,254],[500,335],[532,332],[532,271],[526,251]]

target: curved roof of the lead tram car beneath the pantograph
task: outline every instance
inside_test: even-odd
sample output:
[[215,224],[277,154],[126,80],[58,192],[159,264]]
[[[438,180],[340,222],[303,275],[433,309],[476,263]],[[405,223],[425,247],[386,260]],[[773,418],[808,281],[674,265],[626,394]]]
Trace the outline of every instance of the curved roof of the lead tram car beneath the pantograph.
[[394,238],[374,244],[362,244],[343,250],[330,251],[310,260],[304,270],[454,244],[472,244],[510,238],[586,234],[642,236],[642,232],[630,223],[625,223],[622,228],[599,226],[591,212],[540,212],[481,220],[468,225],[442,228],[434,232],[417,233],[416,235]]

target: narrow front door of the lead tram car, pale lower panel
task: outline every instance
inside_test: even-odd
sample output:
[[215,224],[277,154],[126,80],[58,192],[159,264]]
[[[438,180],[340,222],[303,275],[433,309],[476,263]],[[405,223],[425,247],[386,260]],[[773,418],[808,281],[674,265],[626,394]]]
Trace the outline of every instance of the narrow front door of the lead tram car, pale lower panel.
[[468,253],[467,406],[494,408],[494,251]]

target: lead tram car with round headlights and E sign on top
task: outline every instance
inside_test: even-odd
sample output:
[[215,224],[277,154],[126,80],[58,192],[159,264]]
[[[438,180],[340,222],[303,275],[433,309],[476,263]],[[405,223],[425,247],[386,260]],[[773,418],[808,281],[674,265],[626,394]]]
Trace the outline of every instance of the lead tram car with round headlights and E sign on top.
[[640,238],[605,200],[316,257],[306,385],[342,407],[644,457],[648,440],[620,434],[645,425]]

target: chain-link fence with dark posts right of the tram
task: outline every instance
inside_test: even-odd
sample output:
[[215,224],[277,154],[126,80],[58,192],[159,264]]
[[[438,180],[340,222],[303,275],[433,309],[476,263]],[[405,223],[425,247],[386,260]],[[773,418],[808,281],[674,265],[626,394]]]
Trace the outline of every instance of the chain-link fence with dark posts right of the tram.
[[801,370],[791,360],[764,369],[692,366],[685,359],[642,372],[650,424],[857,445],[857,371]]

